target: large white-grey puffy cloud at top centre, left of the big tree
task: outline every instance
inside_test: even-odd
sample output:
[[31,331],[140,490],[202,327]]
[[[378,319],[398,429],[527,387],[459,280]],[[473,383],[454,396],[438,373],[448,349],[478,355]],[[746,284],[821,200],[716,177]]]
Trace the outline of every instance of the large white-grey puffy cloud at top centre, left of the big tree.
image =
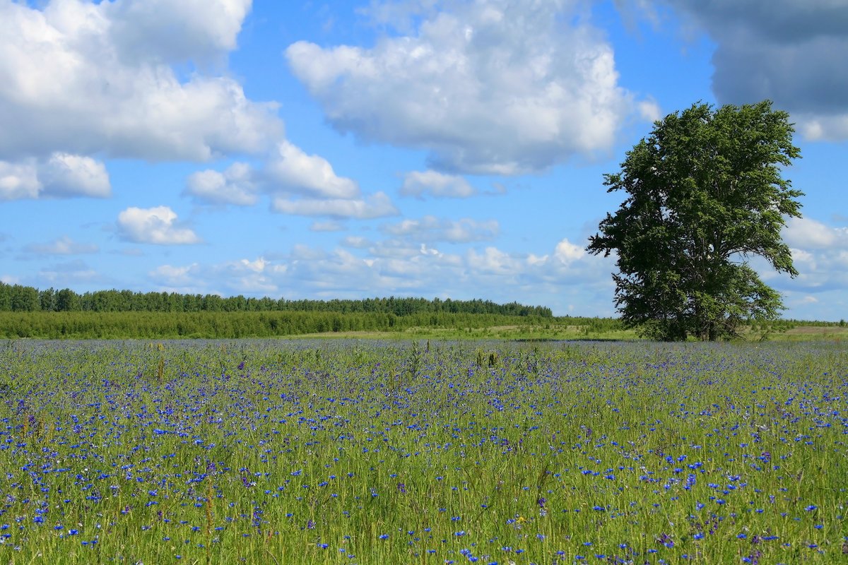
[[430,5],[408,35],[371,48],[287,48],[334,127],[426,149],[442,171],[520,174],[608,149],[639,114],[611,46],[573,3]]

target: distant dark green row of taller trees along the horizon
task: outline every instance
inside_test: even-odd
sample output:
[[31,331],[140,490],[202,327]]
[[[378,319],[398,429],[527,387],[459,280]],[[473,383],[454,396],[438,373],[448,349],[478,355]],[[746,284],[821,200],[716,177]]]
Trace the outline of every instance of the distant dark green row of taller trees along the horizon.
[[0,282],[0,312],[309,312],[375,313],[409,316],[421,313],[494,314],[551,318],[549,307],[525,306],[518,302],[497,304],[488,300],[441,300],[433,298],[365,298],[362,300],[286,300],[268,296],[218,296],[177,292],[93,291],[78,294],[70,289]]

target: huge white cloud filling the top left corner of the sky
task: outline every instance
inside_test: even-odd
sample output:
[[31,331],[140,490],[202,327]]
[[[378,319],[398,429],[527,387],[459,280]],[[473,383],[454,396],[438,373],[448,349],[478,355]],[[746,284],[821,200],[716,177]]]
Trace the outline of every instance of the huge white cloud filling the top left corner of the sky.
[[276,105],[170,66],[235,46],[248,0],[0,3],[0,158],[206,160],[265,151]]

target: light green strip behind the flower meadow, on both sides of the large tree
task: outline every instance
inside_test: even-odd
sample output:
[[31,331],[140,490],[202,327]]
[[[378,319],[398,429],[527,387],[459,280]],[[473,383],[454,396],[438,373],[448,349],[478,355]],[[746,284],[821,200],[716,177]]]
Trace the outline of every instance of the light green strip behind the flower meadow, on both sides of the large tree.
[[[778,320],[746,327],[746,341],[848,337],[845,323]],[[0,339],[242,339],[345,337],[435,340],[634,340],[613,318],[421,312],[0,312]]]

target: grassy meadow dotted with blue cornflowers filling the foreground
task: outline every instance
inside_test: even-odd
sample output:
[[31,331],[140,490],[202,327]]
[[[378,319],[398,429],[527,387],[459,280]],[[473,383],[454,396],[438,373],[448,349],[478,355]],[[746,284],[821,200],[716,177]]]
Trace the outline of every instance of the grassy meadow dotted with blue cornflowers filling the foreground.
[[0,342],[2,563],[848,562],[838,341]]

